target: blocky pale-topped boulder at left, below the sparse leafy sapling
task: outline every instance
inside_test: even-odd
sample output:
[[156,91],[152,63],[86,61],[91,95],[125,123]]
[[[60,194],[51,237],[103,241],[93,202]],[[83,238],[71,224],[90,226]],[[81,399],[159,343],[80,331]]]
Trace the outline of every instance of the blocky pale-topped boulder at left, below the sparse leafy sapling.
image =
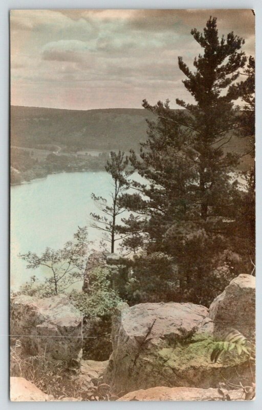
[[11,338],[21,341],[24,353],[45,355],[79,369],[83,320],[67,296],[17,296],[11,301],[10,317]]

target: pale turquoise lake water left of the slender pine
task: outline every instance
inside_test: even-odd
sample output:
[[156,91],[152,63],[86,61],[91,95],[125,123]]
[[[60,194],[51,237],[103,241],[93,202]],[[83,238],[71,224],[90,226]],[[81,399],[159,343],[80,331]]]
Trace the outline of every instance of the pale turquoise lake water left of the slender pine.
[[[59,249],[73,239],[78,226],[89,223],[90,212],[98,212],[91,194],[108,198],[111,177],[106,172],[74,172],[48,175],[11,187],[11,289],[30,279],[42,278],[40,269],[26,269],[18,253],[41,253],[46,247]],[[100,231],[89,228],[89,239],[98,248]],[[92,248],[92,247],[91,247]]]

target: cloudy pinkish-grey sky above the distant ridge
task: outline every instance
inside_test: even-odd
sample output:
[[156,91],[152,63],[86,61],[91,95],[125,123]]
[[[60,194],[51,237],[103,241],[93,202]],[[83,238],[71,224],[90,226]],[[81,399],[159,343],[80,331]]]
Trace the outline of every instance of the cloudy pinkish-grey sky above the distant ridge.
[[191,101],[178,56],[201,53],[190,30],[217,17],[254,55],[251,10],[13,10],[11,104],[77,110]]

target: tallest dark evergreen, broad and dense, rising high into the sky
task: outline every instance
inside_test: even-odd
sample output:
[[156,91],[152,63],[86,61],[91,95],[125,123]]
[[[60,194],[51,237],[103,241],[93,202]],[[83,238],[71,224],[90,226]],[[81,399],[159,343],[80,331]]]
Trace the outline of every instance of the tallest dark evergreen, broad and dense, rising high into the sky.
[[[210,220],[234,218],[239,195],[237,182],[232,183],[230,176],[238,156],[225,148],[241,127],[229,87],[239,75],[237,70],[245,66],[246,56],[241,51],[242,38],[233,32],[219,38],[216,18],[209,18],[203,33],[193,29],[191,34],[203,55],[194,59],[194,71],[182,57],[178,61],[195,104],[177,99],[184,110],[172,110],[168,100],[155,106],[143,101],[156,121],[147,121],[148,139],[141,146],[140,158],[133,151],[130,162],[147,184],[134,182],[136,193],[126,193],[121,201],[130,211],[144,215],[144,231],[150,237],[147,252],[173,255],[187,286],[195,288],[199,283],[201,293],[203,281],[221,262],[228,245],[219,224],[214,228]],[[174,237],[176,232],[181,240]],[[192,257],[191,249],[195,255],[199,251],[198,258]]]

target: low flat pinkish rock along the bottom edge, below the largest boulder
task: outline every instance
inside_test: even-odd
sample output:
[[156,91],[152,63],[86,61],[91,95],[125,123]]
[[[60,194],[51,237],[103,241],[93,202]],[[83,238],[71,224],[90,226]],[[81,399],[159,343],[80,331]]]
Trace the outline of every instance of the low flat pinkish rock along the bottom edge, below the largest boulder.
[[117,401],[220,401],[244,400],[243,390],[230,390],[223,394],[217,388],[192,387],[151,387],[147,390],[137,390],[127,393]]

